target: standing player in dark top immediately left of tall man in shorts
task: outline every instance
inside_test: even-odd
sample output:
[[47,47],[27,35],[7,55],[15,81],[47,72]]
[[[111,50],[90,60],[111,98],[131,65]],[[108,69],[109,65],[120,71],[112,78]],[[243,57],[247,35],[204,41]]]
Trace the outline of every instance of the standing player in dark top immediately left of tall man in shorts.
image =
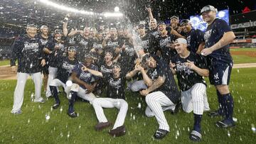
[[181,27],[183,32],[186,33],[188,50],[200,55],[201,50],[203,50],[203,45],[205,44],[203,39],[203,31],[192,28],[191,21],[188,19],[183,19],[181,21]]

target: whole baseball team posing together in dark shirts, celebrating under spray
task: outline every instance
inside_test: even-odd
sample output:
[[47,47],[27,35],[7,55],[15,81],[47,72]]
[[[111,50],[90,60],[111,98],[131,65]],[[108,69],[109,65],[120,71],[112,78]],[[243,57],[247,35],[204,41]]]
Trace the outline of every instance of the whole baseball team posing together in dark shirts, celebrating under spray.
[[[68,26],[70,16],[64,18],[63,28],[52,34],[48,26],[28,24],[26,34],[12,46],[11,70],[17,72],[17,83],[11,113],[22,113],[26,80],[31,76],[35,84],[33,102],[46,102],[41,96],[43,88],[46,98],[55,101],[52,108],[58,109],[66,102],[58,96],[63,92],[68,99],[68,116],[75,118],[75,101],[80,97],[95,109],[95,130],[112,126],[112,136],[126,133],[127,90],[144,97],[145,115],[159,123],[156,139],[170,131],[164,111],[177,113],[180,107],[186,113],[193,111],[189,135],[193,141],[202,138],[204,111],[208,116],[223,116],[215,123],[220,128],[235,126],[233,96],[228,87],[233,67],[229,44],[235,34],[228,23],[216,18],[217,9],[210,5],[201,9],[203,21],[208,23],[205,32],[178,16],[172,16],[170,25],[166,25],[156,21],[150,8],[146,10],[148,24],[141,21],[132,28],[111,25],[77,30]],[[215,111],[210,111],[208,104],[206,77],[218,96],[219,108]],[[114,123],[107,120],[106,108],[119,110]]]

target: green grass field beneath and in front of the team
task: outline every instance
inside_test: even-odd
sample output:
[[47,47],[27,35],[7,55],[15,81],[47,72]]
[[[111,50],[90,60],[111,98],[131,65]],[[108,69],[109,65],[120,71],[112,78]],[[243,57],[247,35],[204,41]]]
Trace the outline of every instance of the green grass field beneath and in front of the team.
[[[230,89],[235,99],[234,117],[238,118],[237,126],[233,128],[217,128],[215,121],[221,118],[210,118],[203,115],[201,143],[255,143],[256,133],[252,131],[252,124],[256,126],[255,75],[256,68],[234,69],[230,82]],[[66,114],[68,100],[60,94],[61,106],[51,110],[53,99],[46,104],[31,102],[34,92],[33,82],[28,80],[23,101],[23,113],[14,116],[10,113],[13,104],[15,80],[0,81],[0,143],[191,143],[188,134],[193,128],[193,113],[180,111],[176,115],[165,112],[171,128],[170,133],[163,140],[154,140],[152,135],[158,128],[155,118],[146,118],[144,110],[146,104],[139,94],[127,92],[129,110],[125,121],[127,134],[112,138],[108,129],[97,132],[95,112],[90,104],[82,101],[75,103],[78,118],[69,118]],[[208,85],[208,101],[211,109],[217,109],[217,97],[212,86]],[[138,103],[142,108],[137,108]],[[117,109],[105,109],[109,121],[114,122]],[[50,119],[46,121],[46,115]]]

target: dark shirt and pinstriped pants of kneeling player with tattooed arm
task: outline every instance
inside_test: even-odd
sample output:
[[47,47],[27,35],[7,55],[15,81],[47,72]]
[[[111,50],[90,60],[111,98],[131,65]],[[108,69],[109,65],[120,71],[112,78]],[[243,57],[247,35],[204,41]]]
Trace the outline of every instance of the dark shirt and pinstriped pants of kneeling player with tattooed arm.
[[174,75],[171,73],[170,67],[164,60],[160,60],[156,55],[151,55],[156,60],[156,67],[149,70],[148,74],[154,81],[158,77],[165,77],[164,84],[162,84],[154,92],[146,95],[146,116],[155,116],[159,123],[159,128],[169,131],[169,125],[164,116],[166,109],[174,109],[180,92],[174,80]]

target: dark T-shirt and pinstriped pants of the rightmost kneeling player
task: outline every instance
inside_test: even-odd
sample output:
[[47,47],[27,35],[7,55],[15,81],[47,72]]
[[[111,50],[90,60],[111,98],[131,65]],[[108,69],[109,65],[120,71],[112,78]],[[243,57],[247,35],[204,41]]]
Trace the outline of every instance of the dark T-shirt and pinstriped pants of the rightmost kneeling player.
[[193,113],[202,115],[204,110],[210,110],[206,96],[206,82],[203,77],[186,66],[187,60],[201,69],[207,69],[206,60],[193,52],[190,52],[186,58],[176,55],[171,60],[176,65],[183,111],[187,113],[193,111]]

